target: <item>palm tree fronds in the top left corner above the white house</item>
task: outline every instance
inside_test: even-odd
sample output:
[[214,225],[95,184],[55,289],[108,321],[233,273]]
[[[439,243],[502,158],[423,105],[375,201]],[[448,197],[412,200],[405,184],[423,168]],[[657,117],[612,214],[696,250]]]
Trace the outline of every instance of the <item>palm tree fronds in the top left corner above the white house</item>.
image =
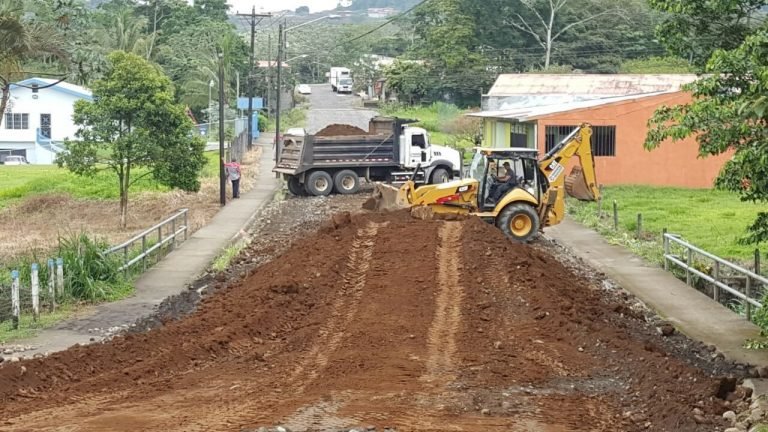
[[19,0],[0,0],[0,125],[11,97],[11,84],[23,79],[25,60],[53,55],[64,59],[63,40],[55,28],[27,22]]

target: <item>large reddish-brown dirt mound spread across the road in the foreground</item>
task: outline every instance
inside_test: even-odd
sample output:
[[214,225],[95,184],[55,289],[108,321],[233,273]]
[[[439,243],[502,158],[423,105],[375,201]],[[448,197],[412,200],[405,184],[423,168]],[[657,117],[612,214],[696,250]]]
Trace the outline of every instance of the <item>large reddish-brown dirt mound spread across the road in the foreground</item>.
[[0,366],[0,429],[712,431],[733,389],[478,219],[341,215],[221,283],[148,333]]

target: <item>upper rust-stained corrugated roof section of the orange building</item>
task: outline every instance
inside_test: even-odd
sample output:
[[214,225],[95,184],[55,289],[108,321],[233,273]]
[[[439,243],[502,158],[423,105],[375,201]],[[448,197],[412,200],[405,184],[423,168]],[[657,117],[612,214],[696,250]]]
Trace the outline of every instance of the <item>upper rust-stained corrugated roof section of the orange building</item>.
[[488,96],[627,96],[679,91],[696,79],[694,74],[503,74]]

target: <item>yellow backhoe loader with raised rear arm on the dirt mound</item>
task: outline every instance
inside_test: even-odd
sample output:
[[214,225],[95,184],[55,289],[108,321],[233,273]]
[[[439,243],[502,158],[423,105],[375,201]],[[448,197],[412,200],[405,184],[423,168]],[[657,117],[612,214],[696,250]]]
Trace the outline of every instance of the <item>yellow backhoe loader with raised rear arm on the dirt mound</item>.
[[[590,139],[582,124],[539,159],[535,149],[475,148],[469,177],[417,188],[408,180],[399,189],[376,183],[371,210],[411,208],[418,218],[474,215],[493,223],[508,237],[528,242],[546,226],[565,217],[565,193],[580,200],[600,196]],[[565,166],[578,156],[580,167],[565,176]],[[417,169],[418,171],[418,169]]]

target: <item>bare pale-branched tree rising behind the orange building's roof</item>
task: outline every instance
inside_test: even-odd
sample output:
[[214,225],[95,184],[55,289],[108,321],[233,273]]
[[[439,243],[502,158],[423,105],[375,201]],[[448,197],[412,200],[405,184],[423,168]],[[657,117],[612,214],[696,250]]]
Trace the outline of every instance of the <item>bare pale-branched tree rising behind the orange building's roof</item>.
[[[605,15],[621,15],[622,9],[609,7],[604,9],[600,2],[579,4],[580,13],[568,11],[573,6],[573,0],[517,0],[519,10],[507,24],[532,36],[536,43],[544,48],[544,68],[548,68],[552,58],[552,47],[566,32],[574,27],[582,26]],[[527,11],[526,11],[527,9]],[[570,12],[571,19],[563,20],[563,15]]]

